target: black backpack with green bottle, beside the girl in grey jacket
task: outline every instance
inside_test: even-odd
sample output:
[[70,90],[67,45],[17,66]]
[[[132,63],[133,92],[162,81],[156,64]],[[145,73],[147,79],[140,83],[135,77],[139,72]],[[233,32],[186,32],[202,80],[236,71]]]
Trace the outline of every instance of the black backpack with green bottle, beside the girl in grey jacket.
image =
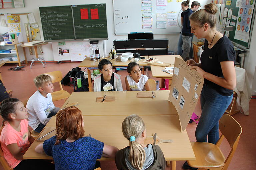
[[[81,84],[82,87],[77,87],[77,78],[81,78]],[[89,83],[88,83],[88,78],[84,77],[84,72],[83,71],[78,71],[74,77],[74,92],[88,92],[89,91]]]

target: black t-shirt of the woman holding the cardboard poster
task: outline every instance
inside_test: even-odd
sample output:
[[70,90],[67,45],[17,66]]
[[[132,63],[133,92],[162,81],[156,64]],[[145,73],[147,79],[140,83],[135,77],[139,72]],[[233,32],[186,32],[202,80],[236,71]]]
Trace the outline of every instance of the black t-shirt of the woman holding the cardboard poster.
[[[202,69],[208,73],[211,73],[218,77],[223,77],[220,62],[221,61],[235,61],[235,49],[231,41],[223,36],[213,45],[211,49],[208,48],[208,41],[205,39],[204,51],[201,55]],[[210,88],[216,90],[223,96],[230,96],[233,94],[233,90],[221,87],[207,79],[204,79],[204,83]]]

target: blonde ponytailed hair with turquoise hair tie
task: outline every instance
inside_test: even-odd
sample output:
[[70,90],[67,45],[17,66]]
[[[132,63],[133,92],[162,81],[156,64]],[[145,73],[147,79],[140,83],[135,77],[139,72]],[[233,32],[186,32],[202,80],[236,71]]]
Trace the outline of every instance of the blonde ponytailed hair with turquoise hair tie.
[[[138,115],[130,115],[126,117],[122,123],[122,132],[126,139],[130,141],[130,137],[134,136],[135,139],[139,138],[142,132],[145,130],[145,124],[141,117]],[[130,154],[128,159],[131,162],[131,165],[135,169],[142,169],[146,153],[143,146],[136,142],[131,141]]]

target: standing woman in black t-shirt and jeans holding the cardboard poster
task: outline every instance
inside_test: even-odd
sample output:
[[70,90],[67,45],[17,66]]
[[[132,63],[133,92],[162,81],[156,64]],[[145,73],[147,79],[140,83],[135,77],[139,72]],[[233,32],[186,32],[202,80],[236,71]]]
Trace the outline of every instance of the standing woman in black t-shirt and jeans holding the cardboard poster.
[[204,79],[201,92],[202,114],[196,128],[196,141],[216,144],[219,139],[219,120],[233,99],[236,87],[234,67],[235,50],[231,41],[216,31],[217,7],[205,5],[205,9],[194,12],[189,20],[191,33],[197,38],[205,38],[201,63],[190,59],[191,69],[195,69]]

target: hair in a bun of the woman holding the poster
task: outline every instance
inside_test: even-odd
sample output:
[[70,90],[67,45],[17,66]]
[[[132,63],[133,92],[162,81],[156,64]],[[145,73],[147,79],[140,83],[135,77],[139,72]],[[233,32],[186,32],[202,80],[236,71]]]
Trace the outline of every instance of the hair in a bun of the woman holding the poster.
[[205,23],[210,25],[210,28],[216,26],[216,16],[218,8],[215,4],[207,4],[205,9],[200,9],[190,15],[189,20],[193,21],[199,27],[203,27]]

